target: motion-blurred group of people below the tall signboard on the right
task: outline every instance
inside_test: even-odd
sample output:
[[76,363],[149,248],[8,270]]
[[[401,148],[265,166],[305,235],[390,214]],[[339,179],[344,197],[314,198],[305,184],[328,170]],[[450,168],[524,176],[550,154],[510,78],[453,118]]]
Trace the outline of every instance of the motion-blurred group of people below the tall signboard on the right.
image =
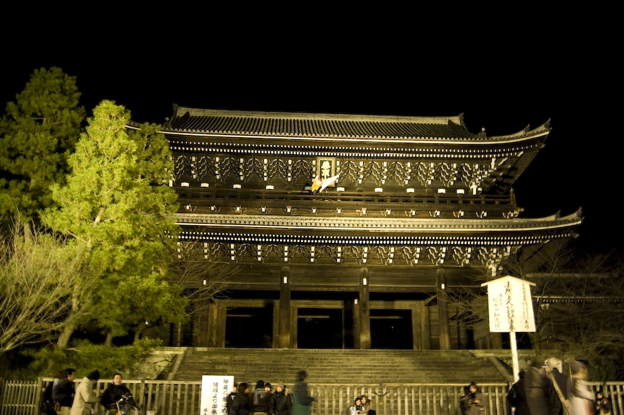
[[[507,394],[513,415],[610,415],[611,402],[587,384],[587,365],[534,357]],[[467,412],[464,414],[477,414]]]

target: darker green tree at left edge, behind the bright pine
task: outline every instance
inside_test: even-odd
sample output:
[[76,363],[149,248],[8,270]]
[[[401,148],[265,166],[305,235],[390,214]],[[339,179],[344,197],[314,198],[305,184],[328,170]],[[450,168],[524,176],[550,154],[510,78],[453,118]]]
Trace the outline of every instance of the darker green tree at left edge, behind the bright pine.
[[49,186],[63,183],[86,113],[76,78],[60,68],[35,70],[0,120],[0,217],[37,219],[51,205]]

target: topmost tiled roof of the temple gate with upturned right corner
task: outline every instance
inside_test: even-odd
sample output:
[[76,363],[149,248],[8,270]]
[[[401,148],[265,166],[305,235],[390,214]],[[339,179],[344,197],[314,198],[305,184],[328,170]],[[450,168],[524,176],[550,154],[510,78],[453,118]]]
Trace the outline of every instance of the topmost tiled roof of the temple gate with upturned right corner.
[[214,110],[174,105],[163,134],[195,138],[379,141],[393,143],[517,143],[549,134],[549,121],[509,135],[474,134],[464,116],[413,117],[331,113],[271,113]]

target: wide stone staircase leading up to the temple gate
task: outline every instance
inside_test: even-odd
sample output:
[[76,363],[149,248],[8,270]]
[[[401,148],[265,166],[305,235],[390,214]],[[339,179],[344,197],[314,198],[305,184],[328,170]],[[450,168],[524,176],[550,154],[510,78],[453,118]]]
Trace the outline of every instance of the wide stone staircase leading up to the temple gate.
[[262,379],[292,384],[305,370],[310,383],[493,383],[505,382],[496,358],[468,350],[234,349],[189,347],[177,357],[170,380],[200,381],[231,375],[250,387]]

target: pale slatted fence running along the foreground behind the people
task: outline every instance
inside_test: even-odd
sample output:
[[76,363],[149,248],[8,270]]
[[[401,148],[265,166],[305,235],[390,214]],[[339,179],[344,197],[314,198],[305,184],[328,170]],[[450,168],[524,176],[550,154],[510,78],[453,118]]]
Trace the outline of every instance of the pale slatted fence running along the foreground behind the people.
[[[0,415],[39,415],[44,385],[50,378],[38,381],[6,381],[0,395]],[[110,381],[100,380],[96,385],[99,396]],[[201,381],[124,381],[142,415],[201,415]],[[590,383],[593,390],[602,389],[611,399],[612,415],[624,415],[624,382]],[[310,395],[318,401],[312,404],[312,415],[347,415],[357,395],[367,395],[371,408],[378,415],[461,415],[459,398],[464,383],[388,383],[334,385],[309,383]],[[481,391],[488,400],[486,415],[509,415],[507,412],[508,385],[481,383]],[[98,406],[98,414],[104,409]]]

